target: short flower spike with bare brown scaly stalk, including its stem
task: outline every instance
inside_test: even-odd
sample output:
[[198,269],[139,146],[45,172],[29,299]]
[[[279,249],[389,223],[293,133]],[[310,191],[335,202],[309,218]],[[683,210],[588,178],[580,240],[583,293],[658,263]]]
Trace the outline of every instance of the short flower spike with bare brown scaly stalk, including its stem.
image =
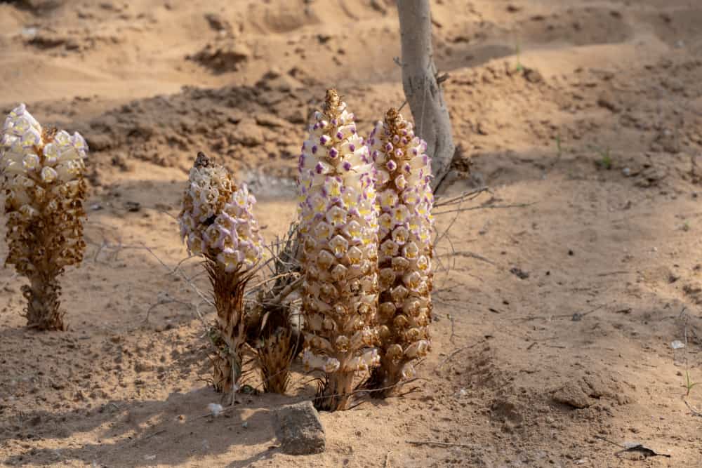
[[218,347],[213,382],[218,392],[235,392],[241,377],[247,331],[244,288],[263,258],[255,203],[246,185],[237,186],[223,166],[197,155],[178,222],[188,251],[204,256],[213,288],[217,326],[211,338]]

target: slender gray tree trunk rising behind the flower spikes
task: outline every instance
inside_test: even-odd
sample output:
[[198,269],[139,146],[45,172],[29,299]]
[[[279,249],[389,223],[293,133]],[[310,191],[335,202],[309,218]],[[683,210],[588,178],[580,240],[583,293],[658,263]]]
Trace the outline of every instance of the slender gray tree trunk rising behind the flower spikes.
[[402,87],[417,135],[427,142],[436,189],[451,166],[456,147],[444,93],[437,83],[432,53],[429,0],[397,0],[402,41]]

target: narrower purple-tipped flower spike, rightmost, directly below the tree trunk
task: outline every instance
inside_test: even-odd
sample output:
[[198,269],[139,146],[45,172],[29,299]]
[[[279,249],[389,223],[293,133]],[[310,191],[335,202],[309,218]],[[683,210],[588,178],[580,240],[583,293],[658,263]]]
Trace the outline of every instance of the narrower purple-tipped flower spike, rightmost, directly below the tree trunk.
[[[369,135],[377,170],[378,318],[381,366],[390,380],[414,375],[411,361],[430,349],[433,194],[426,142],[390,109]],[[383,383],[383,382],[381,382]],[[388,382],[385,382],[386,384]],[[390,385],[397,382],[390,382]]]

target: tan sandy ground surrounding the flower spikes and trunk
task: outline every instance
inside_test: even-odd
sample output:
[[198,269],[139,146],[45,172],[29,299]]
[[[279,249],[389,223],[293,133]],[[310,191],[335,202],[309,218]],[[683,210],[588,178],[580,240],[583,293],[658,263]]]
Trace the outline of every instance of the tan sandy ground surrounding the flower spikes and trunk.
[[313,393],[305,375],[204,416],[220,397],[199,297],[169,274],[186,257],[174,216],[204,150],[251,184],[267,239],[282,234],[324,88],[364,131],[403,100],[394,7],[0,1],[0,110],[27,102],[93,149],[86,259],[62,279],[70,330],[25,330],[22,279],[0,269],[1,465],[702,466],[702,386],[684,399],[686,373],[702,382],[702,6],[432,8],[463,149],[446,194],[490,192],[437,210],[435,352],[415,391],[322,414],[326,452],[292,457],[270,412]]

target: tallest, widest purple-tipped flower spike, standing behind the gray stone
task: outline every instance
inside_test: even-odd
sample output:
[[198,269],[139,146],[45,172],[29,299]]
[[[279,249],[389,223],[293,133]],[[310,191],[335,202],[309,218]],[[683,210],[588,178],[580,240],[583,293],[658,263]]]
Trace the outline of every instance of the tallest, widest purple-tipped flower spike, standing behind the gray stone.
[[373,164],[336,90],[314,114],[299,167],[303,362],[326,373],[317,408],[344,410],[357,372],[378,364],[378,220]]

